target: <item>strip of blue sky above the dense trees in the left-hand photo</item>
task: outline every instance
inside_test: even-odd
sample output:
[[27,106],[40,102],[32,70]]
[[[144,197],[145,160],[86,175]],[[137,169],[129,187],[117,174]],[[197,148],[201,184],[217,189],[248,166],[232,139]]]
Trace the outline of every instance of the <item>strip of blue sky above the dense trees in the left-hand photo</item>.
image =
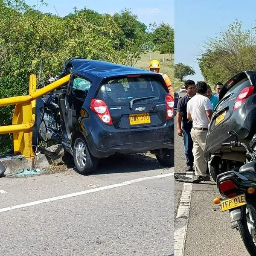
[[[25,0],[25,2],[29,6],[40,3],[39,0]],[[57,14],[57,10],[60,16],[73,12],[74,7],[77,7],[77,9],[84,9],[86,7],[99,13],[109,14],[119,12],[126,7],[131,8],[131,12],[138,15],[138,20],[147,26],[154,22],[159,24],[161,21],[174,26],[174,0],[45,0],[45,2],[48,3],[48,7],[41,6],[39,9],[41,12]]]

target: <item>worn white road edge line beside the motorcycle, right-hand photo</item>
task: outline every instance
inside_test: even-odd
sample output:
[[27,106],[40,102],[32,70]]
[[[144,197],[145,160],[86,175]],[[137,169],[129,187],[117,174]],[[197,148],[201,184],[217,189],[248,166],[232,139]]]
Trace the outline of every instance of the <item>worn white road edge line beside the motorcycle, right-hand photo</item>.
[[[186,177],[193,177],[192,172],[188,172]],[[189,220],[189,209],[192,193],[192,183],[184,183],[180,196],[180,205],[175,219],[174,233],[174,254],[175,256],[183,256],[186,241],[186,230]]]

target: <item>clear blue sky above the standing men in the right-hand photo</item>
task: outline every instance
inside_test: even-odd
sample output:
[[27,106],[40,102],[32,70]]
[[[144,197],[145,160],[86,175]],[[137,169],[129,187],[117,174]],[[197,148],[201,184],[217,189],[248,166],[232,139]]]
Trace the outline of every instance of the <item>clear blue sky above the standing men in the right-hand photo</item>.
[[255,0],[175,0],[175,63],[182,62],[196,72],[185,79],[203,80],[196,58],[207,38],[236,19],[243,29],[251,29],[256,24],[255,10]]

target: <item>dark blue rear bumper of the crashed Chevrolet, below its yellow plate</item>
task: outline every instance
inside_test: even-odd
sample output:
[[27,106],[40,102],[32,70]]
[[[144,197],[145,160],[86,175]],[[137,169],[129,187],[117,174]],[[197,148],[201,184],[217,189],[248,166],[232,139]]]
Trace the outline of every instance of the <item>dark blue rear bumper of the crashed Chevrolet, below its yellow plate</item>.
[[[101,122],[101,121],[100,121]],[[112,125],[95,125],[86,138],[94,157],[108,157],[116,153],[136,153],[160,148],[174,148],[174,119],[156,128],[116,130]]]

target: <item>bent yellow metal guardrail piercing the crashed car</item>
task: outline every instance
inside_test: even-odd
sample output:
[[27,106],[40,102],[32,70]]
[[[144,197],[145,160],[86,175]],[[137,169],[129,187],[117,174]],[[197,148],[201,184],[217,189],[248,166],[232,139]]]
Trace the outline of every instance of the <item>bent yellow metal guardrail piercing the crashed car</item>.
[[32,129],[35,124],[35,100],[61,87],[70,79],[70,74],[36,90],[36,76],[29,77],[29,95],[0,99],[0,107],[15,105],[12,125],[0,126],[0,134],[13,133],[14,154],[34,157]]

